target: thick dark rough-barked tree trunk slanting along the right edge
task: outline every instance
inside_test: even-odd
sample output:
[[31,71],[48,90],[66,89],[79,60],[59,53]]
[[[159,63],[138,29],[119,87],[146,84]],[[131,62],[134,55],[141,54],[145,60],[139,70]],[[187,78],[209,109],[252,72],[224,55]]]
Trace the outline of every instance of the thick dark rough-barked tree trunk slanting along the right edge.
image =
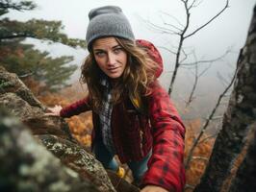
[[245,45],[241,51],[237,79],[224,114],[209,165],[195,192],[220,191],[241,153],[244,137],[256,121],[256,7]]

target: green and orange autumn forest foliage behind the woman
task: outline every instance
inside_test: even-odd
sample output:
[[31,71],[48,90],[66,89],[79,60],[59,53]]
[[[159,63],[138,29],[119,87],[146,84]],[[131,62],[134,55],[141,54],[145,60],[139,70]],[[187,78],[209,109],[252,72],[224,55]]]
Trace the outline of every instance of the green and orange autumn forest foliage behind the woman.
[[[9,7],[3,7],[7,4]],[[23,44],[22,42],[26,37],[49,40],[51,43],[61,42],[72,47],[85,47],[86,42],[83,39],[68,38],[64,35],[62,33],[64,26],[60,21],[32,19],[27,22],[19,22],[3,18],[3,15],[12,9],[18,11],[34,9],[36,5],[31,1],[21,1],[20,4],[16,4],[12,1],[1,0],[0,6],[2,16],[0,20],[0,65],[8,71],[16,73],[45,106],[61,105],[65,107],[84,97],[87,94],[86,86],[66,84],[68,78],[76,69],[76,65],[67,64],[72,60],[72,57],[51,58],[49,53],[36,50],[33,45]],[[222,106],[222,108],[224,107]],[[188,109],[181,111],[184,114],[186,112],[189,112]],[[68,119],[67,122],[74,137],[82,145],[90,147],[90,132],[92,129],[90,112],[74,116]],[[220,123],[221,121],[211,123],[212,132],[204,133],[193,151],[191,165],[186,170],[188,191],[192,191],[204,173]],[[187,127],[185,151],[187,157],[204,122],[202,122],[201,117],[198,117],[185,121],[185,124]],[[215,129],[216,127],[217,129]],[[242,160],[243,155],[238,158],[234,170]],[[231,178],[232,176],[230,180]]]

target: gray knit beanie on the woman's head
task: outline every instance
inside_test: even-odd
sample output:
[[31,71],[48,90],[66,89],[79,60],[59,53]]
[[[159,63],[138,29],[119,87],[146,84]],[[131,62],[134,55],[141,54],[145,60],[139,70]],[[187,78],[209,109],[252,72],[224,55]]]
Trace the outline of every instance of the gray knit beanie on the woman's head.
[[135,37],[131,25],[116,6],[105,6],[92,9],[89,12],[90,23],[87,30],[88,49],[93,40],[103,36],[117,36],[134,41]]

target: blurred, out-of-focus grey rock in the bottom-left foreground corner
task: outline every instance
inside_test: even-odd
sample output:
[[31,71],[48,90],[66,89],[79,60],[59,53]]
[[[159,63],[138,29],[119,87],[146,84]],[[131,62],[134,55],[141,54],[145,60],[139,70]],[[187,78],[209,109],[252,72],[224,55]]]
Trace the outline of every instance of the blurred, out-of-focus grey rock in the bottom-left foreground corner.
[[0,191],[98,191],[65,167],[3,108],[0,116]]

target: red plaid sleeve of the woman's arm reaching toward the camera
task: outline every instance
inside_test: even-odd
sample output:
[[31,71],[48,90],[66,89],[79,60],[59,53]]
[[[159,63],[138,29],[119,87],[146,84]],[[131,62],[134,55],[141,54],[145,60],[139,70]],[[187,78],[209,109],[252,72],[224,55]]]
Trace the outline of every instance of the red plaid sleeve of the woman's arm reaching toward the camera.
[[149,96],[149,113],[153,149],[142,185],[153,184],[181,192],[185,185],[185,126],[166,90],[157,82]]

